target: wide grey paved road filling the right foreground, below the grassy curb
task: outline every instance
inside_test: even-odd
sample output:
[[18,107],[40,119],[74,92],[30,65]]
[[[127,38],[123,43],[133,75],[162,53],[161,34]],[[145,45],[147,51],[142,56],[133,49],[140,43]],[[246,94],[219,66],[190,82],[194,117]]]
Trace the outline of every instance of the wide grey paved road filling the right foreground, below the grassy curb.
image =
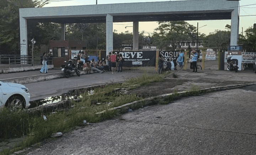
[[255,100],[254,91],[232,89],[144,107],[49,139],[27,155],[252,155]]

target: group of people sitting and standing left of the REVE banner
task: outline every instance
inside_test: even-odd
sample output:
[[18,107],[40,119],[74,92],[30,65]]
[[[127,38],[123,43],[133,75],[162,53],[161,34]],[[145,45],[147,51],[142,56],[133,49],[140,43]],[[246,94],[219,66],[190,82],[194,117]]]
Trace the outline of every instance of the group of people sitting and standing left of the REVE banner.
[[[82,55],[83,53],[81,53]],[[91,71],[96,71],[98,73],[103,73],[103,72],[107,72],[107,71],[113,71],[112,73],[117,72],[122,72],[123,71],[123,56],[122,54],[119,54],[119,52],[117,52],[117,54],[115,54],[115,52],[109,52],[109,54],[107,55],[107,62],[106,60],[104,60],[104,58],[100,61],[95,62],[95,59],[92,59],[91,61],[88,61],[86,58],[86,56],[84,55],[79,55],[80,56],[80,60],[82,60],[83,58],[85,63],[83,66],[83,70],[86,71],[86,73],[91,73]],[[83,61],[83,60],[82,60]]]

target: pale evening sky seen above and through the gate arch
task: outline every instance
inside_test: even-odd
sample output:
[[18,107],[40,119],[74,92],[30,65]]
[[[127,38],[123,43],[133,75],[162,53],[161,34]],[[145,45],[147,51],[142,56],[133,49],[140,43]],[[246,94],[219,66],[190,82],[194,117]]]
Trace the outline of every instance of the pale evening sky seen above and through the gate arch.
[[[75,5],[95,5],[97,4],[115,4],[115,3],[130,3],[130,2],[156,2],[156,1],[169,1],[169,0],[50,0],[50,3],[44,7],[56,7],[56,6],[75,6]],[[171,0],[176,1],[176,0]],[[256,0],[240,0],[240,22],[239,22],[239,34],[249,28],[253,27],[256,23]],[[186,21],[189,24],[197,27],[198,33],[206,34],[213,33],[215,30],[225,31],[226,24],[231,24],[231,20],[210,20],[210,21]],[[129,33],[133,32],[132,22],[113,23],[113,30],[116,33]],[[157,22],[139,22],[139,32],[144,31],[144,35],[152,35],[155,28],[158,27]]]

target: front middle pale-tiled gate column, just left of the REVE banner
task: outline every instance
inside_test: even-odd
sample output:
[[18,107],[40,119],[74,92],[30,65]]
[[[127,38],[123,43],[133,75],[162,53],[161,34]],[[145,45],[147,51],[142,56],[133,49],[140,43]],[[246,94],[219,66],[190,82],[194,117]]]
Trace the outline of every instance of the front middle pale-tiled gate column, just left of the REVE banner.
[[113,16],[106,16],[106,56],[113,51]]

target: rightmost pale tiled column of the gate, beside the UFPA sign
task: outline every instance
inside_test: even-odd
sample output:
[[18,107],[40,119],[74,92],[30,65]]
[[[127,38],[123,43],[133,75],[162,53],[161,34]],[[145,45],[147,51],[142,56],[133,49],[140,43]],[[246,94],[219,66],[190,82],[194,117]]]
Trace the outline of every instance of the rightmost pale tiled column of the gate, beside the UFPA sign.
[[230,46],[236,46],[239,38],[239,7],[231,12]]

